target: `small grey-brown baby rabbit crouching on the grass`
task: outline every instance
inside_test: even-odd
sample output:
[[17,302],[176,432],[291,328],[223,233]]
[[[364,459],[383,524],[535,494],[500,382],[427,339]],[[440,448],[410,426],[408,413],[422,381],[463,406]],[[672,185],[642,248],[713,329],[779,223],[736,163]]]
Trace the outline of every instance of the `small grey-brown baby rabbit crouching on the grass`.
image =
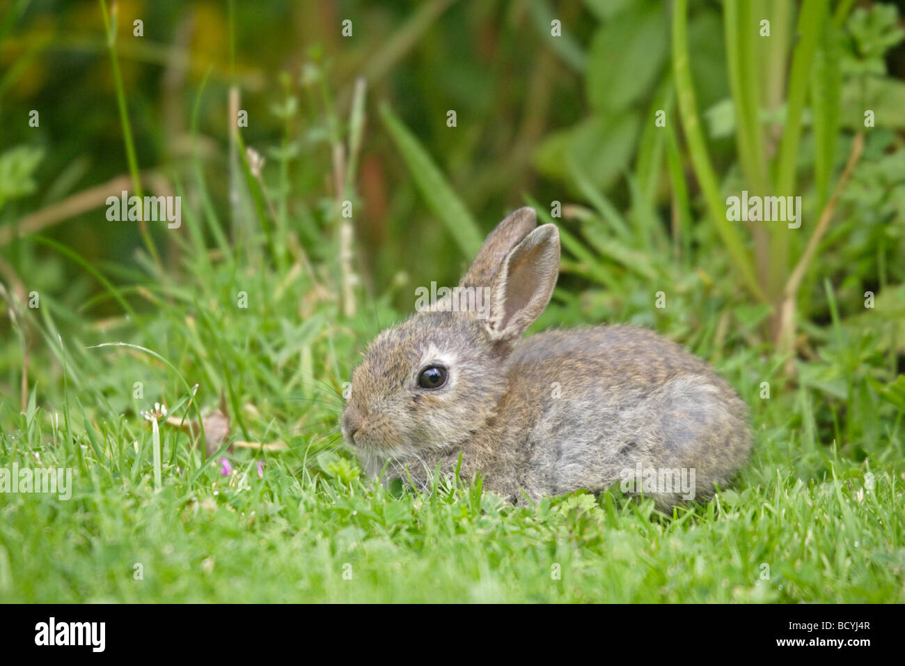
[[751,448],[748,408],[705,362],[627,325],[521,339],[558,272],[557,227],[519,208],[459,285],[488,309],[455,311],[447,295],[376,337],[342,415],[369,474],[427,488],[461,453],[462,478],[480,471],[515,503],[621,483],[662,508],[729,482]]

